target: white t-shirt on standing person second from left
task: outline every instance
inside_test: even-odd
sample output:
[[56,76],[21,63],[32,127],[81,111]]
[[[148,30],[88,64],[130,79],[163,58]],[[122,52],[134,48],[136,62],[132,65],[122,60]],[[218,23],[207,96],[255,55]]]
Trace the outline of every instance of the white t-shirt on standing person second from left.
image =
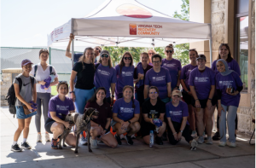
[[[51,66],[52,67],[52,66]],[[35,72],[35,65],[33,65],[32,67],[32,71],[30,72],[30,74],[32,76],[34,76],[34,72]],[[52,67],[52,71],[51,71],[51,75],[49,75],[49,65],[47,66],[47,68],[43,69],[43,67],[41,66],[40,63],[38,63],[38,69],[37,69],[37,72],[36,72],[36,79],[37,81],[42,81],[46,78],[49,78],[49,76],[51,76],[51,79],[53,80],[54,78],[57,78],[58,77],[58,74],[57,72],[55,71],[55,68]],[[49,87],[48,90],[44,90],[44,89],[41,89],[41,84],[37,84],[37,92],[39,93],[51,93],[51,88]]]

